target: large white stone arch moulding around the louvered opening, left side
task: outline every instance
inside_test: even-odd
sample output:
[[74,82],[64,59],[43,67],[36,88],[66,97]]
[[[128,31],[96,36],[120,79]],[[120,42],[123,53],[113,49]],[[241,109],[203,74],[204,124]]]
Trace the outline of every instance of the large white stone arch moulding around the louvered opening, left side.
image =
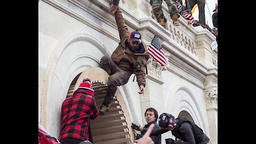
[[46,68],[38,111],[43,126],[53,137],[59,136],[61,104],[71,82],[86,68],[98,67],[103,55],[110,57],[110,52],[86,32],[68,34],[55,46]]

